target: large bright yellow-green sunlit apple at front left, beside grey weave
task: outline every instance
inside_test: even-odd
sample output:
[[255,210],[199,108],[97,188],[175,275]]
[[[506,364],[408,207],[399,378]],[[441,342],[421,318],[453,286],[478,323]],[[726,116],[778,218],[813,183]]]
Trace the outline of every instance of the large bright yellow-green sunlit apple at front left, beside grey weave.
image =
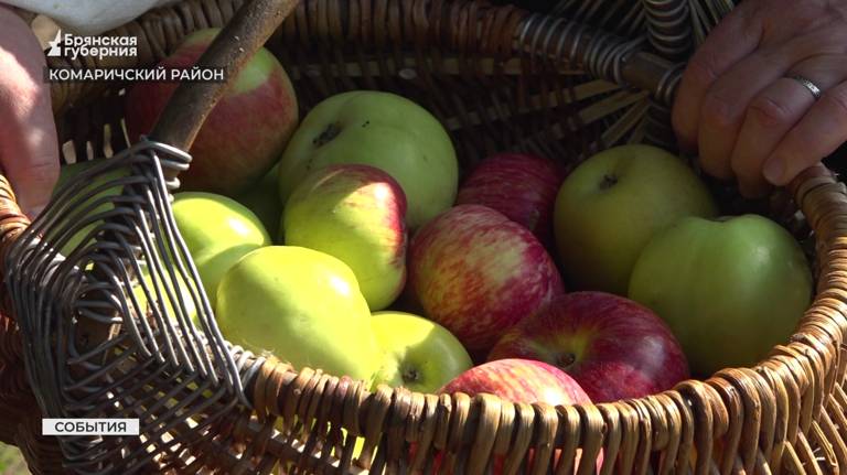
[[229,342],[270,350],[296,368],[367,384],[379,369],[371,312],[353,271],[317,250],[269,246],[242,258],[221,280],[216,317]]

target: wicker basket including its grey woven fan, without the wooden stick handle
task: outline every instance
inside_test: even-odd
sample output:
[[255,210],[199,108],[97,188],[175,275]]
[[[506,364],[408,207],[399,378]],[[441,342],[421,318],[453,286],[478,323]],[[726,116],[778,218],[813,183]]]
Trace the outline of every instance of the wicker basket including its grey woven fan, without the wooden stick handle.
[[[190,31],[229,21],[238,3],[180,3],[108,34],[138,35],[141,54],[132,61],[153,64]],[[297,7],[268,47],[307,109],[342,90],[392,90],[442,120],[465,166],[501,150],[573,166],[617,143],[669,143],[678,63],[728,10],[717,0],[566,0],[561,17],[543,17],[483,2],[313,0]],[[54,88],[61,132],[77,159],[127,149],[115,133],[121,87]],[[812,230],[817,293],[785,345],[754,368],[726,369],[662,395],[553,408],[386,387],[371,393],[224,343],[167,203],[165,185],[176,184],[169,179],[187,162],[160,142],[128,148],[69,184],[31,226],[3,182],[0,255],[17,326],[7,319],[0,333],[0,357],[12,361],[0,370],[14,371],[25,359],[46,415],[142,420],[141,439],[62,439],[68,468],[268,473],[281,462],[285,473],[438,465],[475,474],[503,457],[504,473],[535,474],[847,469],[847,195],[823,168],[786,191]],[[105,186],[92,184],[106,175]],[[768,207],[781,218],[794,210],[783,197]],[[72,229],[89,226],[96,233],[67,256],[53,250]],[[808,236],[803,226],[793,230]],[[173,292],[180,279],[201,309],[197,326]],[[172,305],[142,313],[146,299]],[[15,381],[15,395],[26,393],[24,380]],[[31,465],[57,469],[53,440],[31,435],[31,422],[15,424],[9,436],[29,441]],[[354,458],[356,436],[365,443]],[[594,467],[601,451],[602,466]]]

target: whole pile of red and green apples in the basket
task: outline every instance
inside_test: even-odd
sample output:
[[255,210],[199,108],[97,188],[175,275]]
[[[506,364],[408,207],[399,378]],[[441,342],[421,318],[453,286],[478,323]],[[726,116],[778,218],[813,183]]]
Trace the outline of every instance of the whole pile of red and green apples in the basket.
[[[193,64],[214,34],[162,66]],[[130,139],[174,87],[130,90]],[[372,386],[550,404],[641,397],[753,365],[812,294],[786,230],[720,216],[666,151],[618,147],[570,173],[503,153],[460,185],[450,138],[422,107],[352,91],[298,125],[286,71],[264,50],[191,153],[173,213],[227,339]]]

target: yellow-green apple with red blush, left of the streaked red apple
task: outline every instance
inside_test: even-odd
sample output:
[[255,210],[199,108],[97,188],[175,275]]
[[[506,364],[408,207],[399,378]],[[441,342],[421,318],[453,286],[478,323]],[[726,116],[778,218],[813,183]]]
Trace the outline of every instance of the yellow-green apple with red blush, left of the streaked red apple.
[[371,311],[387,307],[406,282],[406,197],[390,175],[367,165],[312,172],[288,198],[286,245],[335,256],[353,269]]

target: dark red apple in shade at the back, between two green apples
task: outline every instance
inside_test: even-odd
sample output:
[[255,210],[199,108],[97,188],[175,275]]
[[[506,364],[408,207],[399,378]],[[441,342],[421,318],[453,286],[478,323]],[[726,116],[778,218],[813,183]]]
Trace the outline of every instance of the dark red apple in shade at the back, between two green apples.
[[483,160],[459,188],[457,204],[483,205],[553,244],[553,209],[565,171],[551,160],[503,153]]

